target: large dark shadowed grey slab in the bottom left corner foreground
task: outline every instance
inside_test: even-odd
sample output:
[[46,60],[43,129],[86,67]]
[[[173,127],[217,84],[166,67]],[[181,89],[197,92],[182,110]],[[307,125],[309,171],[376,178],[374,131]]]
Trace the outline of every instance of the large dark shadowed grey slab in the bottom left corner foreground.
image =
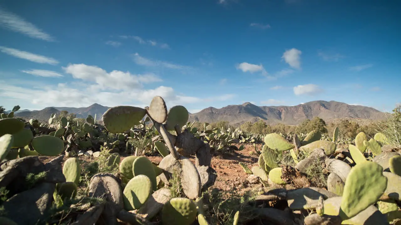
[[55,188],[53,183],[41,183],[7,199],[3,203],[7,217],[17,224],[36,224],[51,207]]

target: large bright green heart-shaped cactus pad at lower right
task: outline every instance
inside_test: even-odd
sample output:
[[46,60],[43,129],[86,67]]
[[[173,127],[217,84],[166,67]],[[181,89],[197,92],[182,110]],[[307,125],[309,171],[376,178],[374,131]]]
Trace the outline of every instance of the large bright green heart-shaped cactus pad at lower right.
[[356,164],[344,185],[340,217],[343,220],[352,218],[375,204],[386,188],[387,177],[383,176],[383,167],[369,161]]

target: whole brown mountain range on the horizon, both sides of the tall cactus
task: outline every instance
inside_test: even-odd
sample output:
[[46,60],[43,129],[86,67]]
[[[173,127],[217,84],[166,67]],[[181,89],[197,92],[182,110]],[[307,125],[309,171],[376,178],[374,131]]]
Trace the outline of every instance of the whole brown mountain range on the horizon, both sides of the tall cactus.
[[[24,119],[38,119],[47,121],[52,113],[60,114],[62,110],[75,113],[78,118],[86,118],[89,114],[101,119],[107,106],[92,104],[89,107],[47,107],[43,110],[18,110],[16,117]],[[386,118],[386,113],[375,108],[349,105],[336,101],[312,101],[296,106],[256,106],[250,102],[240,105],[228,105],[223,108],[205,108],[200,112],[189,115],[189,121],[200,121],[213,123],[217,121],[229,121],[232,125],[239,125],[247,121],[256,122],[263,120],[270,124],[284,123],[286,125],[297,125],[305,119],[320,117],[324,121],[338,118],[358,118],[369,120],[380,120]]]

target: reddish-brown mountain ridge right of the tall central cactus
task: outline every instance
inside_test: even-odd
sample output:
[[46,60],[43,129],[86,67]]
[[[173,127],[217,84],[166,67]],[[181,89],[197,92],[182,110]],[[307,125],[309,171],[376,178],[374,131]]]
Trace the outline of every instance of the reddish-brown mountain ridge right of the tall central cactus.
[[384,119],[385,116],[386,113],[367,106],[318,100],[296,106],[256,106],[245,102],[241,105],[228,105],[223,108],[209,107],[190,114],[189,120],[207,123],[224,120],[229,121],[232,125],[263,120],[271,124],[297,125],[305,119],[312,119],[313,117],[320,117],[324,121],[329,121],[336,118],[379,120]]

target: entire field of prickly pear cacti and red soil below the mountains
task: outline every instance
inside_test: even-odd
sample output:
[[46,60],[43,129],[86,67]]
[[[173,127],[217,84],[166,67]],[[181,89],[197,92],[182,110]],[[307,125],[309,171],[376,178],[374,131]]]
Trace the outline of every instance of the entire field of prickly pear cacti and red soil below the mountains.
[[383,133],[200,129],[160,96],[85,123],[19,108],[0,119],[0,224],[401,224],[401,153]]

